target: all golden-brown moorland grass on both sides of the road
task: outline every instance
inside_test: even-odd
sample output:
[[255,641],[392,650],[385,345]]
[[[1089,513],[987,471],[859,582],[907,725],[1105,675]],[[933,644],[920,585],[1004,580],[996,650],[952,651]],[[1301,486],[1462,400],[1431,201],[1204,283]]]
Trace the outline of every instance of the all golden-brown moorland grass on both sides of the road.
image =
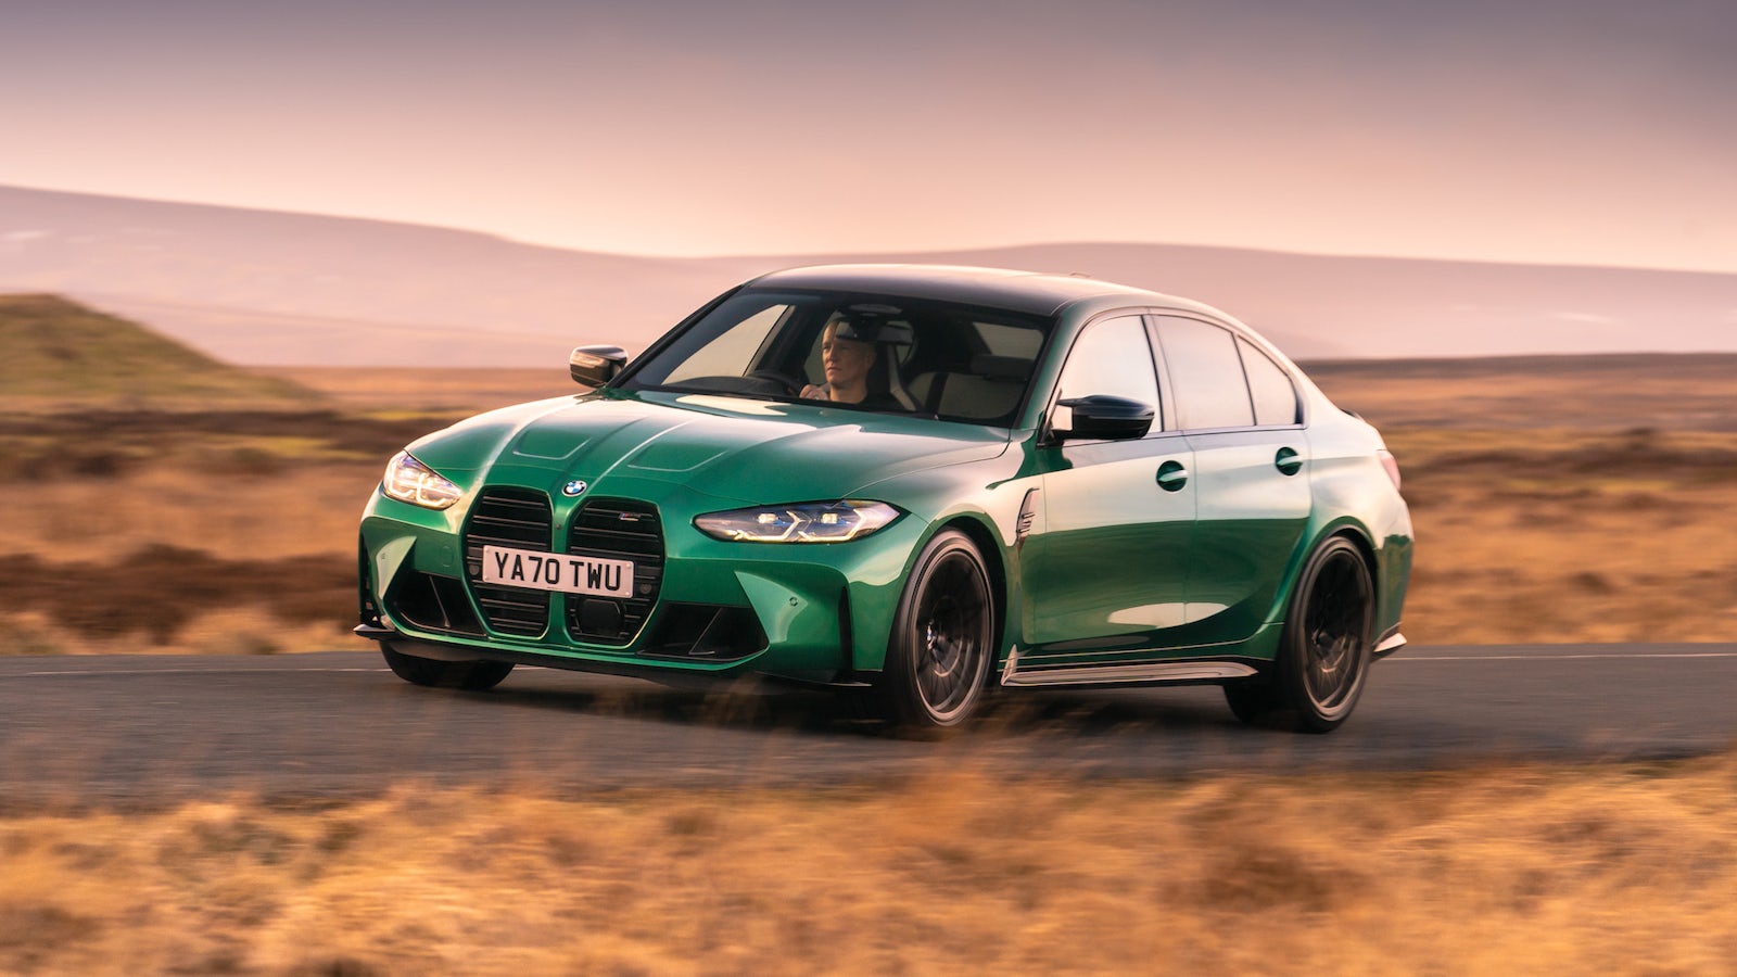
[[[1567,362],[1317,369],[1405,466],[1412,640],[1732,640],[1737,362],[1694,363],[1595,363],[1615,388]],[[297,376],[318,407],[231,415],[7,412],[0,488],[24,518],[0,523],[0,648],[340,647],[354,520],[386,457],[462,412],[565,389],[558,372],[466,377]],[[1612,409],[1621,384],[1661,396]],[[1520,398],[1501,421],[1485,410],[1497,396]],[[0,972],[1711,974],[1737,960],[1737,754],[1150,784],[1006,782],[935,760],[825,791],[549,796],[528,772],[505,793],[5,808]]]

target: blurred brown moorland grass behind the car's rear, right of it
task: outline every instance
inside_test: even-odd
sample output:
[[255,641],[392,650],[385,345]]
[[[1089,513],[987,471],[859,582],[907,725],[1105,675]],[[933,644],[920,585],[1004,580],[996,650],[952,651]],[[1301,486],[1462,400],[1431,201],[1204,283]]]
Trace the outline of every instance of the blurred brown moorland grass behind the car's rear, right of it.
[[1400,459],[1412,641],[1737,640],[1737,356],[1310,374]]

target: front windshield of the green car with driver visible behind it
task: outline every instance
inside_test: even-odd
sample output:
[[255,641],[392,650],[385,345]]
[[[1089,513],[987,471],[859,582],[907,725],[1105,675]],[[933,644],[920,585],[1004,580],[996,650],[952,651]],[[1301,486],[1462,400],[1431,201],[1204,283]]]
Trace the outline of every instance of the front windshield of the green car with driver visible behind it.
[[933,299],[743,289],[653,348],[620,386],[1006,426],[1049,327]]

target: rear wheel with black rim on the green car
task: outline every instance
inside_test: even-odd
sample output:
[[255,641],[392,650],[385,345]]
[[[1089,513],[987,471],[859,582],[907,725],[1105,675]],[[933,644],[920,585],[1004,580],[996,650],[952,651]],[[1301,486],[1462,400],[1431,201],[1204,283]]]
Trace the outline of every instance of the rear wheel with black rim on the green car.
[[1339,728],[1364,692],[1374,641],[1376,588],[1364,555],[1343,535],[1310,553],[1263,680],[1225,687],[1249,725],[1324,734]]

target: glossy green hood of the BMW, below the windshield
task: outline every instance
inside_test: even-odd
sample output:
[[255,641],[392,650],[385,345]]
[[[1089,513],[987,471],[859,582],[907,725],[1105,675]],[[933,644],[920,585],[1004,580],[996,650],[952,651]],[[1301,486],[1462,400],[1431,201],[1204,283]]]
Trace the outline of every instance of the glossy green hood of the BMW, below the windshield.
[[851,497],[886,478],[997,457],[1007,442],[1002,428],[823,403],[639,393],[495,410],[415,442],[410,454],[471,483],[511,466],[537,482],[641,478],[754,504]]

